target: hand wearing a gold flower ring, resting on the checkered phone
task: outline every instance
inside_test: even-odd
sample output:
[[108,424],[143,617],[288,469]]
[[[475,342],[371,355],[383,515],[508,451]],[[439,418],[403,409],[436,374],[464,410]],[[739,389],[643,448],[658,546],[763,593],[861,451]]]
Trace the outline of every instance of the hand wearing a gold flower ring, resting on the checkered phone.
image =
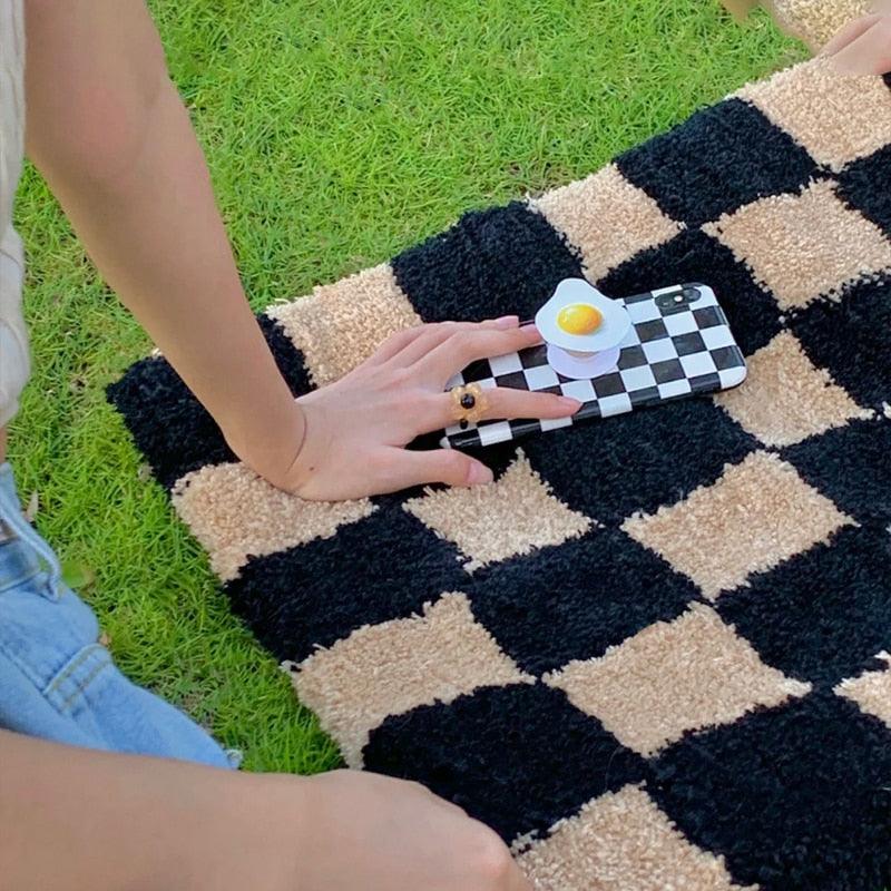
[[[540,340],[517,316],[482,323],[443,322],[402,331],[341,380],[301,396],[305,434],[280,488],[310,500],[335,501],[409,486],[490,482],[480,461],[450,449],[408,451],[421,433],[453,423],[449,379],[470,362],[522,350]],[[564,418],[580,402],[552,393],[487,390],[484,420]]]

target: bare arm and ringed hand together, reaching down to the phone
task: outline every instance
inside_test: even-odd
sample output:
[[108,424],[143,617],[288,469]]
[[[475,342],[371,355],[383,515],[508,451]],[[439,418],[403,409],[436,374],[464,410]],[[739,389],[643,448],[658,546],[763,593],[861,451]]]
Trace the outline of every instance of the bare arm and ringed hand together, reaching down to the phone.
[[[295,403],[248,309],[144,0],[27,0],[26,9],[28,154],[236,454],[314,499],[490,480],[468,456],[403,447],[451,422],[443,386],[462,362],[533,343],[535,331],[518,332],[516,317],[495,339],[479,325],[421,326],[388,344],[386,362],[378,356]],[[446,359],[422,368],[437,346]],[[490,400],[502,418],[558,418],[579,404],[518,391]]]

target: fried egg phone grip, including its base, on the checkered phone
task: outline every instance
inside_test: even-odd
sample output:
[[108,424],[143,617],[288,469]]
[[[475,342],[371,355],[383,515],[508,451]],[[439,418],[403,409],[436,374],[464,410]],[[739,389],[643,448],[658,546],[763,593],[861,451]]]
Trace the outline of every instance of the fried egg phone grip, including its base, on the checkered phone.
[[616,368],[631,327],[628,311],[584,278],[564,278],[536,313],[548,364],[564,378],[588,380]]

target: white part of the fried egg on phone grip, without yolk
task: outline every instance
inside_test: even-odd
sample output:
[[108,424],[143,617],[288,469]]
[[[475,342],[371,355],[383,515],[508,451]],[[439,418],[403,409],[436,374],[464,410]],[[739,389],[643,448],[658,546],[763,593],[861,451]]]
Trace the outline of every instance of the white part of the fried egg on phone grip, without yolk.
[[[557,324],[560,311],[574,303],[599,310],[603,322],[596,331],[570,334]],[[536,313],[536,327],[546,343],[579,353],[598,353],[618,346],[630,326],[631,320],[625,306],[601,294],[584,278],[564,278],[554,296]]]

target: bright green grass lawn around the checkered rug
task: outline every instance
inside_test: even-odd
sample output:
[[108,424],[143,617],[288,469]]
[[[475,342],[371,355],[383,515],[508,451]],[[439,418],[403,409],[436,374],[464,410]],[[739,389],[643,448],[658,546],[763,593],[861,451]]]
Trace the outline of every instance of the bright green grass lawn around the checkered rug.
[[[155,0],[260,310],[381,261],[462,210],[596,169],[747,79],[802,57],[715,0]],[[105,403],[149,342],[97,278],[39,177],[18,225],[35,378],[14,424],[23,495],[95,578],[121,667],[254,770],[334,746],[229,616],[207,561]],[[349,596],[349,593],[344,593]]]

